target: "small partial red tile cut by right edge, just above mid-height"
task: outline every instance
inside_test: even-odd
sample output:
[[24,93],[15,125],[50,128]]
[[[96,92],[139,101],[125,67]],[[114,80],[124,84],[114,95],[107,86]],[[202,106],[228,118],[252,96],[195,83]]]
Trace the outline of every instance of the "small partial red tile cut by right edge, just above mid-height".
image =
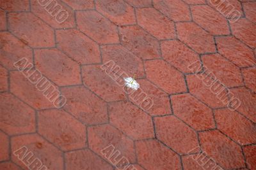
[[242,69],[242,73],[244,76],[244,83],[246,87],[256,92],[256,80],[255,80],[256,68],[250,67],[250,68]]

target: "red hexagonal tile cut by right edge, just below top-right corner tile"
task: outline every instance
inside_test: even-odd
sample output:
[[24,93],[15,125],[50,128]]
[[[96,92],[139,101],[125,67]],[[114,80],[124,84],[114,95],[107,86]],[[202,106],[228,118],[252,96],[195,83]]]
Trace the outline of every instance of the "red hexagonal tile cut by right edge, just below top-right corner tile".
[[234,36],[236,36],[236,38],[240,39],[251,48],[256,47],[255,24],[246,20],[245,18],[240,18],[239,20],[237,20],[237,22],[231,23],[230,25],[232,32]]

